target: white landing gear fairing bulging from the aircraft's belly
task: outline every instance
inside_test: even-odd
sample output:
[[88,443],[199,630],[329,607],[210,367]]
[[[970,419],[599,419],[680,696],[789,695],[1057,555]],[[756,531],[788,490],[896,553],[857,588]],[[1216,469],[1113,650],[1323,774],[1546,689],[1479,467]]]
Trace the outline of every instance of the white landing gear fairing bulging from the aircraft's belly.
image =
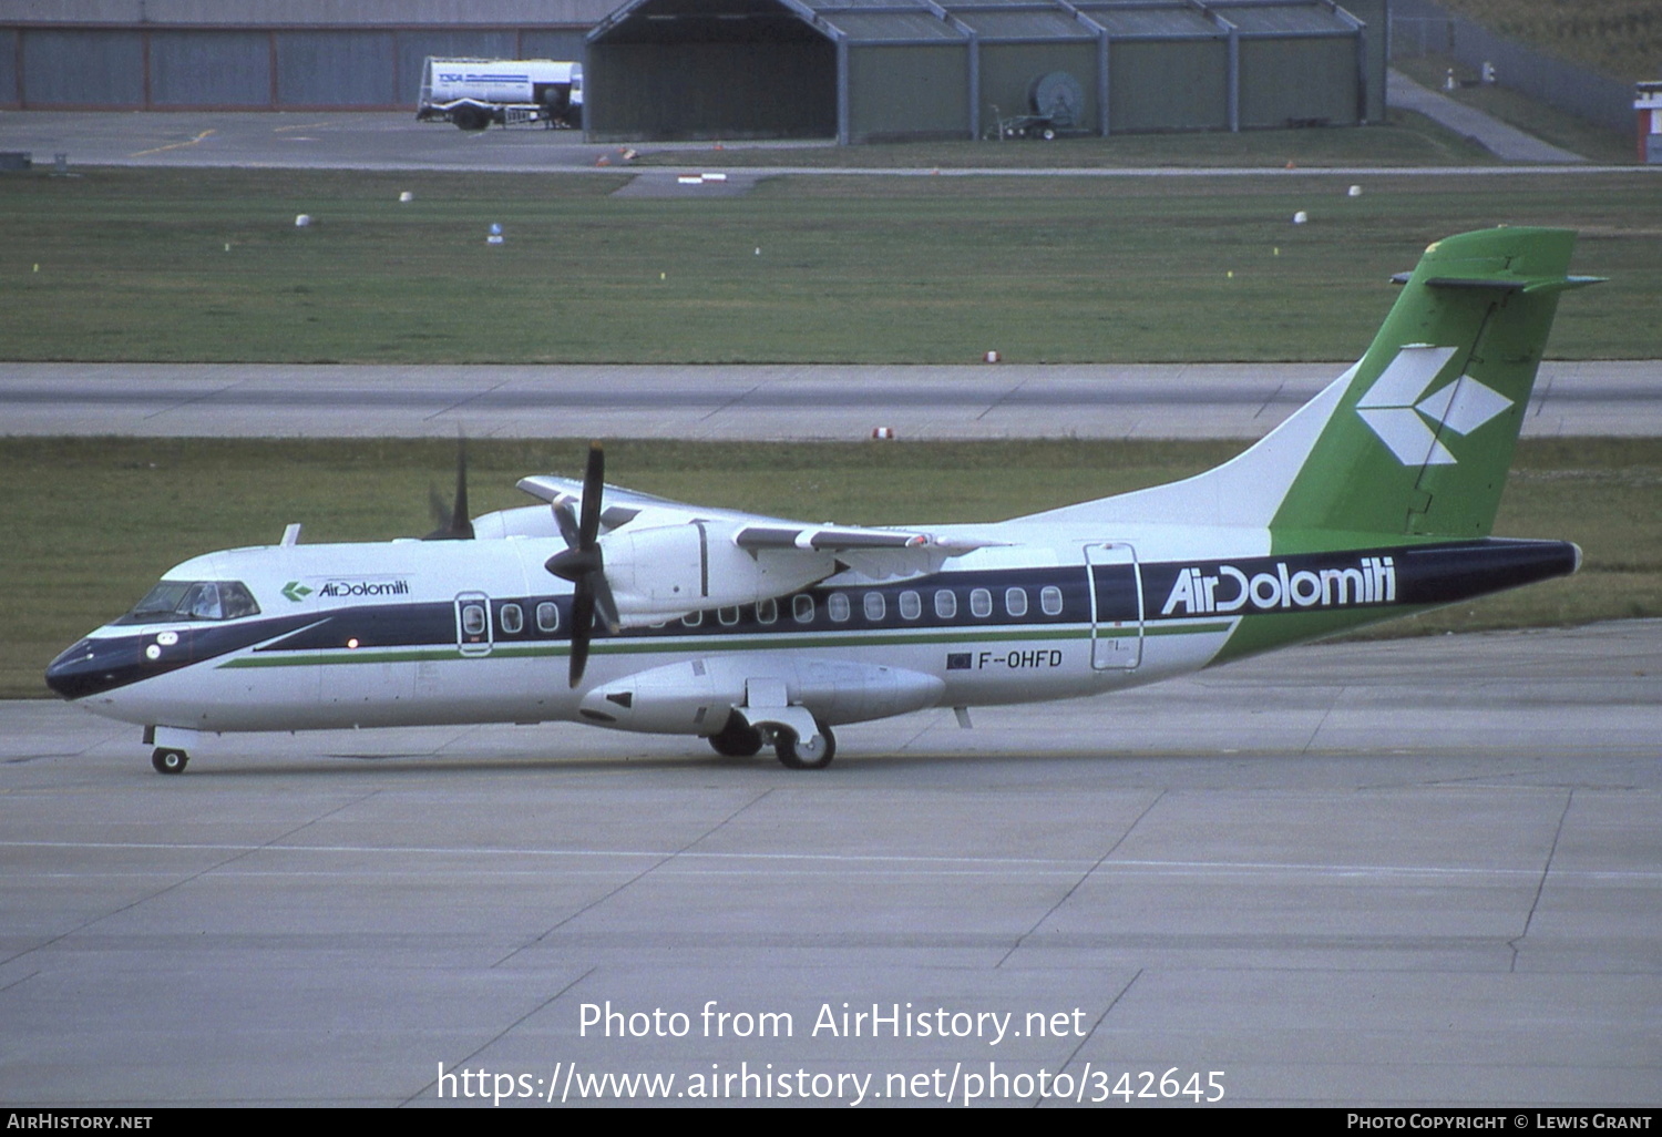
[[768,708],[778,701],[770,698],[751,706],[751,693],[776,692],[779,685],[783,705],[804,706],[833,726],[924,710],[946,693],[941,678],[907,668],[756,653],[696,658],[625,675],[588,692],[578,713],[613,730],[713,735],[735,708],[746,721],[766,721]]

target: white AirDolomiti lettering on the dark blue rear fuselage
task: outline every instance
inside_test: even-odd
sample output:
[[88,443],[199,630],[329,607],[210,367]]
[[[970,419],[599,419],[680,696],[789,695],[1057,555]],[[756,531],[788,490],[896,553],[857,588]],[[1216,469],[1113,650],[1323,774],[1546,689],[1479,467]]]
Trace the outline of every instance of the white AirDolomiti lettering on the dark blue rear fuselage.
[[[1265,565],[1263,572],[1253,572]],[[1220,612],[1273,612],[1276,608],[1333,608],[1396,602],[1396,559],[1361,557],[1343,568],[1298,568],[1285,560],[1246,568],[1182,568],[1160,615],[1215,615]]]

